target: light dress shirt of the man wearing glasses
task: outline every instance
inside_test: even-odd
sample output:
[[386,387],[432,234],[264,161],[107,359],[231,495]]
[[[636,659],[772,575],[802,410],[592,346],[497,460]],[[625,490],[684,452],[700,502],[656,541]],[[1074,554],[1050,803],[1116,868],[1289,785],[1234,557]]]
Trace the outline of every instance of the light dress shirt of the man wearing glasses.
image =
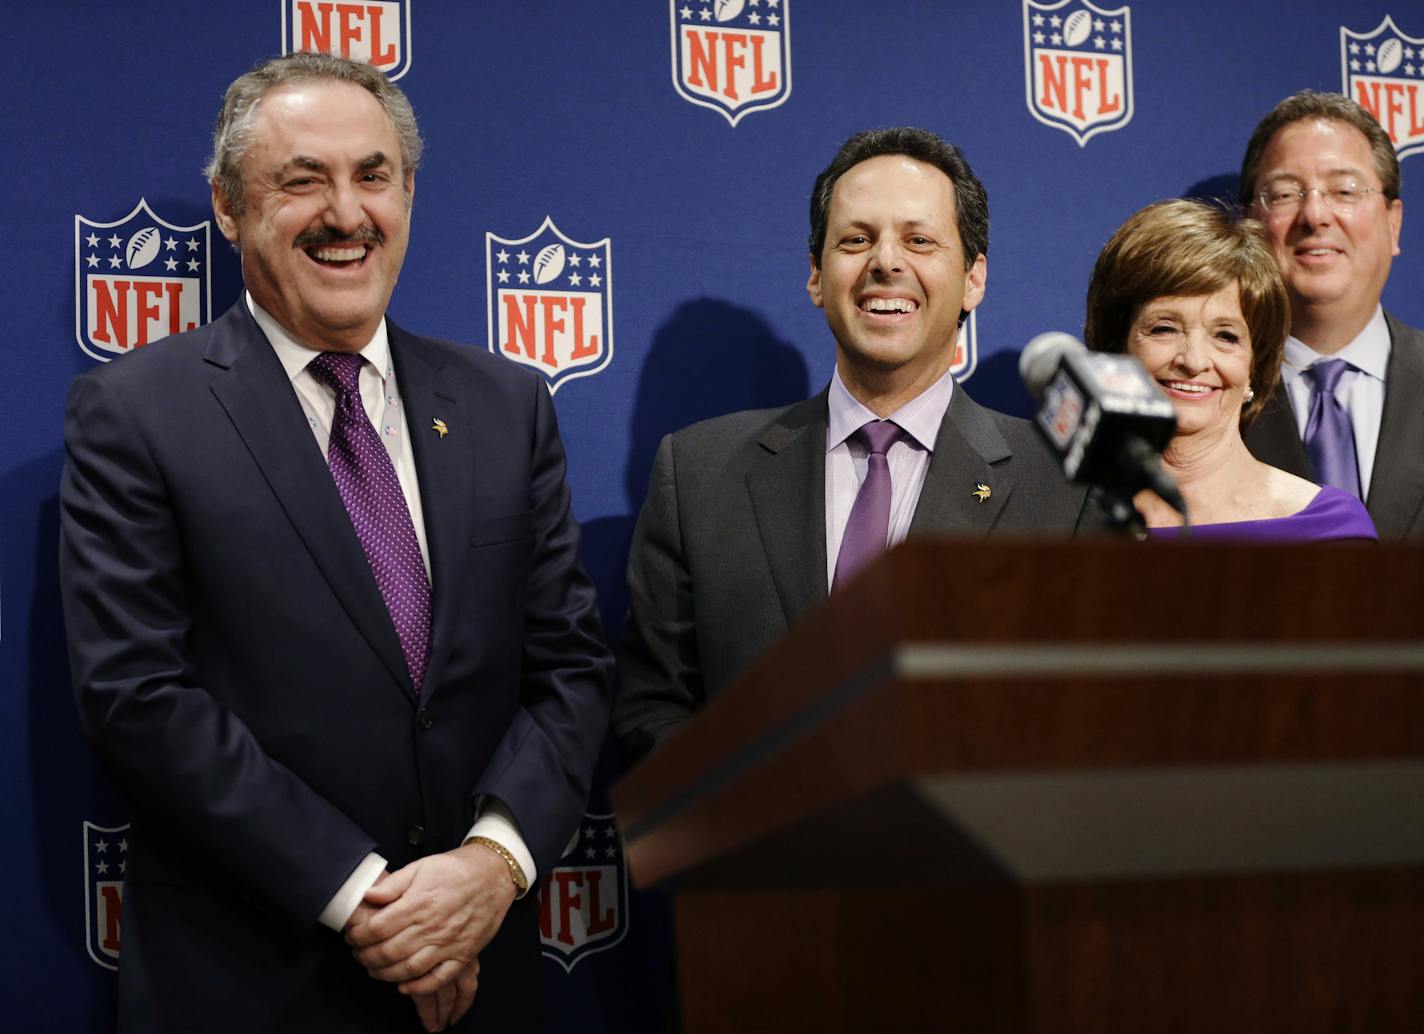
[[1350,426],[1354,430],[1354,459],[1360,469],[1361,498],[1370,497],[1374,453],[1380,444],[1384,375],[1390,367],[1390,325],[1384,322],[1384,309],[1376,306],[1374,315],[1358,336],[1333,356],[1316,352],[1303,340],[1287,338],[1286,356],[1280,365],[1280,380],[1290,397],[1290,407],[1296,412],[1296,429],[1302,442],[1306,437],[1306,423],[1310,420],[1310,403],[1314,395],[1310,382],[1302,373],[1324,359],[1344,359],[1356,367],[1341,375],[1334,396],[1350,414]]

